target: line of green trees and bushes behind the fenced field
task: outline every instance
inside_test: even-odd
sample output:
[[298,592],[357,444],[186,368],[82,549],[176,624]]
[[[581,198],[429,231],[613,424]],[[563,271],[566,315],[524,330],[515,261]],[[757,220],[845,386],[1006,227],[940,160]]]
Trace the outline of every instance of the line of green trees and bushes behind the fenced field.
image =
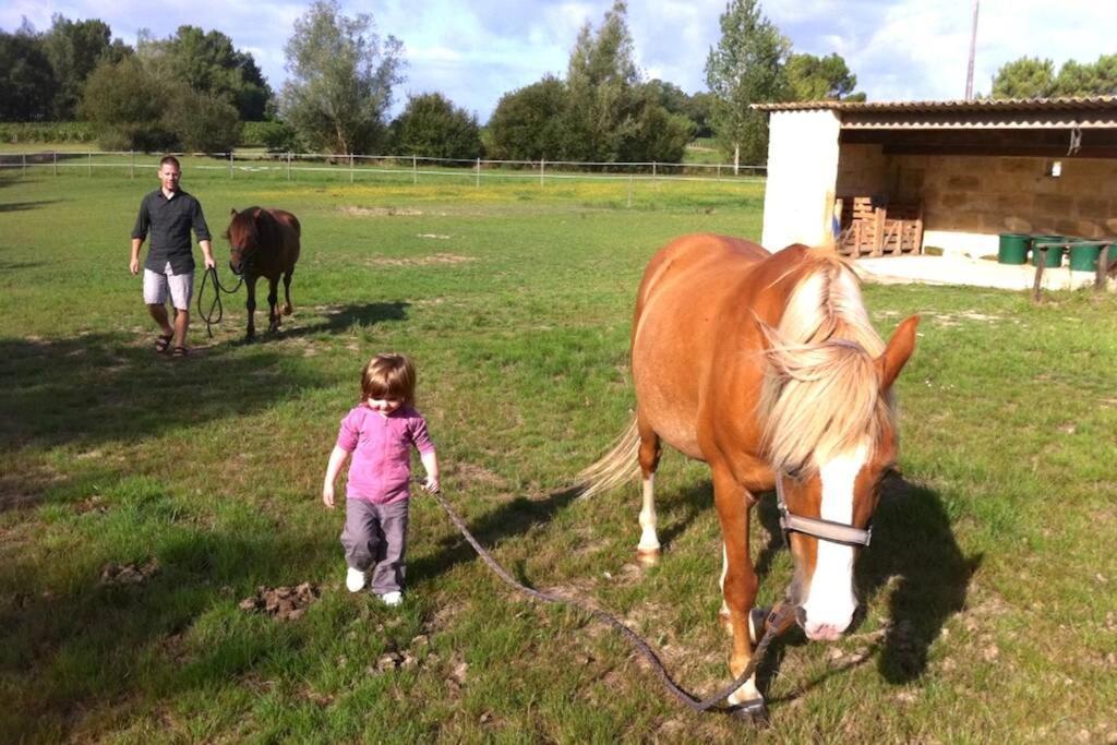
[[393,152],[447,159],[679,162],[695,137],[714,137],[735,161],[763,162],[765,117],[753,103],[862,99],[838,55],[792,51],[758,0],[729,0],[706,61],[707,92],[646,79],[636,64],[628,6],[614,0],[586,22],[565,75],[500,97],[483,127],[442,93],[410,96],[390,118],[405,79],[403,44],[369,13],[316,0],[284,48],[288,79],[273,90],[251,54],[217,30],[182,26],[135,47],[101,20],[52,17],[0,31],[0,122],[90,122],[105,150],[226,152],[245,122],[269,150]]

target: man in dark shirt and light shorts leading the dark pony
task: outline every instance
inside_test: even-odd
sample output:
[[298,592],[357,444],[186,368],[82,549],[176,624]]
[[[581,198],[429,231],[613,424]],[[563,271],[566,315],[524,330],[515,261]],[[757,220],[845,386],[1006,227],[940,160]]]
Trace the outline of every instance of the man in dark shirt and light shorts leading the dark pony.
[[[132,229],[132,274],[140,271],[140,247],[151,231],[151,248],[143,264],[143,302],[159,324],[155,352],[173,348],[175,357],[187,355],[187,328],[190,327],[190,298],[194,292],[194,257],[190,245],[193,229],[202,248],[206,268],[212,268],[213,251],[209,228],[197,199],[179,188],[182,170],[179,159],[168,155],[159,162],[160,188],[140,202],[140,216]],[[166,313],[166,297],[174,306],[174,326]],[[173,342],[173,347],[172,347]]]

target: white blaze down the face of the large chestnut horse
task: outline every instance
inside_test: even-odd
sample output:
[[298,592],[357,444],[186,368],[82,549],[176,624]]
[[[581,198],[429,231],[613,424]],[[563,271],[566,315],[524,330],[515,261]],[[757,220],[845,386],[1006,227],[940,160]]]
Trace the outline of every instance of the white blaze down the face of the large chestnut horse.
[[[853,484],[865,466],[868,448],[861,445],[853,452],[838,456],[819,469],[822,479],[824,520],[851,525],[853,522]],[[819,550],[811,576],[811,588],[803,603],[806,614],[803,630],[810,639],[832,641],[849,627],[857,610],[853,596],[853,547],[819,539]]]

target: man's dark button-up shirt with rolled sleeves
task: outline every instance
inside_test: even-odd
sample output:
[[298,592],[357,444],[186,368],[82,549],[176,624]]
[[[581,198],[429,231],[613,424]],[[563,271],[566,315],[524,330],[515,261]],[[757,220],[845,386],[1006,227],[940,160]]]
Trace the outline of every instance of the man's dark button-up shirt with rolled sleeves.
[[162,189],[156,189],[140,202],[140,216],[132,229],[133,238],[146,238],[151,230],[151,245],[143,266],[163,274],[166,262],[171,262],[174,274],[194,270],[194,255],[190,243],[190,229],[198,240],[210,240],[209,227],[202,216],[202,206],[197,199],[182,191],[168,199]]

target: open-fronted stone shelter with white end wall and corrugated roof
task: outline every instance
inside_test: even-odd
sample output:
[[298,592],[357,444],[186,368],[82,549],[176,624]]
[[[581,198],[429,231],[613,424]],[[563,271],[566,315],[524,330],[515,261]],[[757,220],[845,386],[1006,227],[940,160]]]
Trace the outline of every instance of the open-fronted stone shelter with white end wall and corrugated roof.
[[[848,238],[855,203],[878,210],[875,255],[978,258],[996,255],[1005,232],[1117,237],[1117,96],[755,108],[770,116],[770,250]],[[918,233],[888,243],[905,230],[886,227],[889,206]]]

